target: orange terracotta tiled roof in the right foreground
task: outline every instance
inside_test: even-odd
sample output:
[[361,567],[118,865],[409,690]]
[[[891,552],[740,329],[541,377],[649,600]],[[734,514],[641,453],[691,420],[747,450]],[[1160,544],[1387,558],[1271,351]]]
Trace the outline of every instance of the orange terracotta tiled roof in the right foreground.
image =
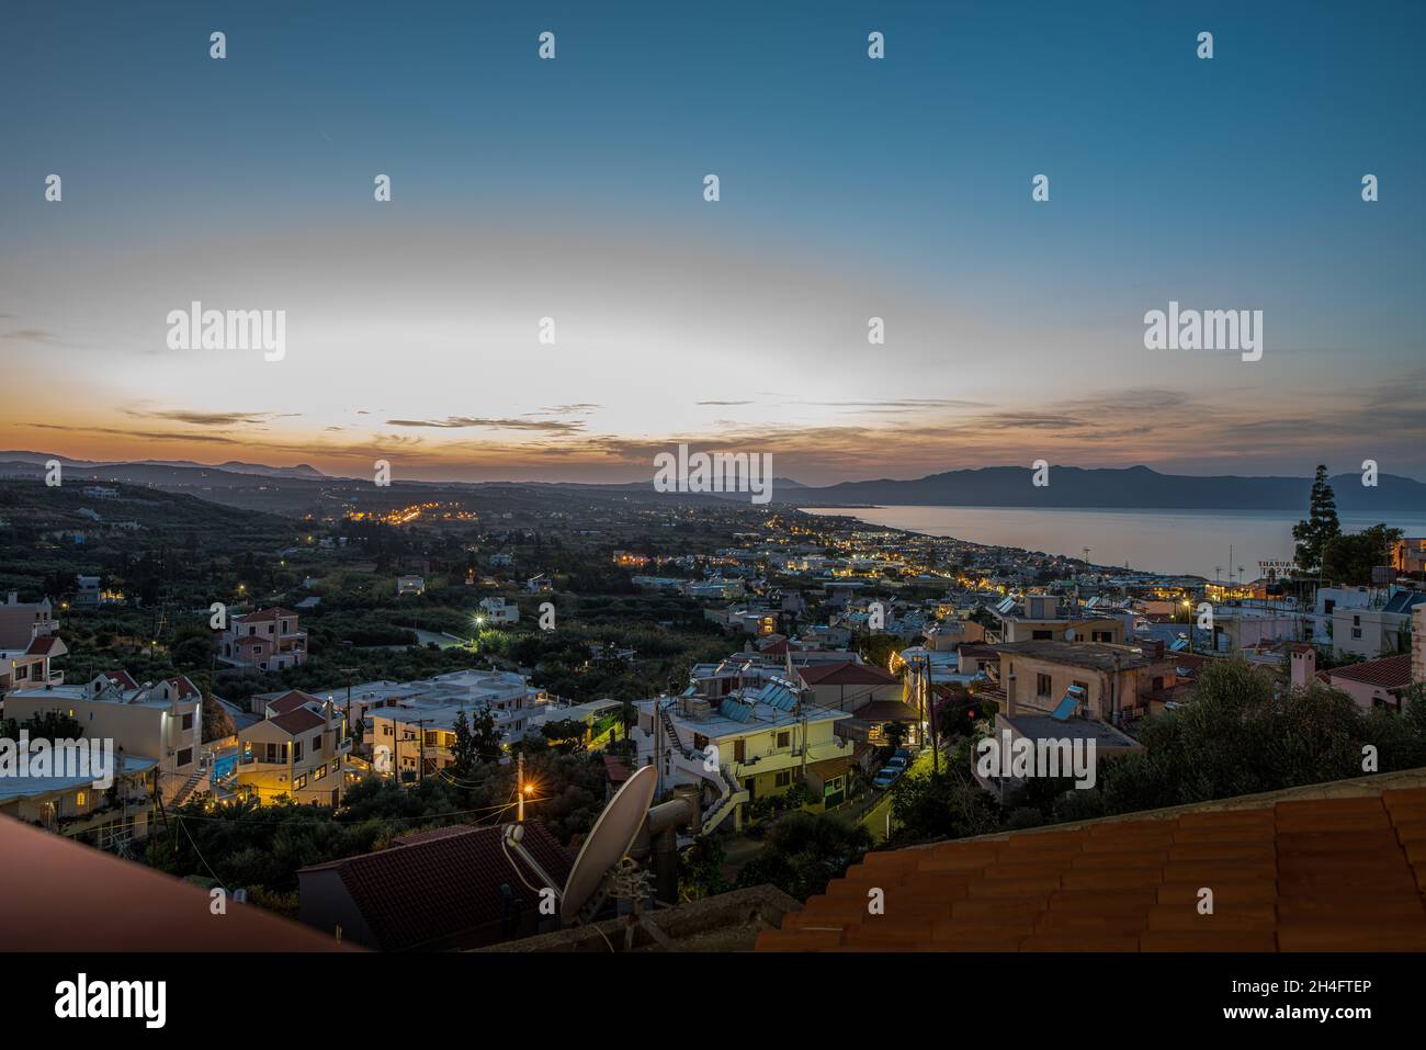
[[868,853],[756,947],[1422,952],[1423,894],[1426,789],[1399,789]]

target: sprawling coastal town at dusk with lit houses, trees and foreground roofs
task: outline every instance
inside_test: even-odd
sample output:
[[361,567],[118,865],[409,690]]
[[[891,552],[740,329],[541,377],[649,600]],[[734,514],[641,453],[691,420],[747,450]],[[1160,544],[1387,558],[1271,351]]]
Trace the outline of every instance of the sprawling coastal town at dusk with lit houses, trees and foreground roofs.
[[[1302,565],[1206,579],[647,491],[275,515],[97,479],[0,481],[0,733],[116,755],[0,778],[11,856],[110,855],[294,946],[1426,947],[1426,538],[1345,559],[1315,502]],[[543,907],[645,790],[612,856],[643,880]],[[1376,899],[1265,923],[1273,820],[1340,825]],[[1229,860],[1195,923],[1174,894]]]

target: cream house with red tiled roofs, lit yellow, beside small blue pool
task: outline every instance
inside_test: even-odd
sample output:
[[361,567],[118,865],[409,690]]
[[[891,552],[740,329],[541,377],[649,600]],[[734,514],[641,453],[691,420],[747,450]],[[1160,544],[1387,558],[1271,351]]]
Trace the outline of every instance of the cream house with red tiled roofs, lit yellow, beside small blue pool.
[[275,713],[238,730],[238,793],[262,803],[285,795],[294,802],[339,805],[352,749],[342,710],[298,690],[268,709]]

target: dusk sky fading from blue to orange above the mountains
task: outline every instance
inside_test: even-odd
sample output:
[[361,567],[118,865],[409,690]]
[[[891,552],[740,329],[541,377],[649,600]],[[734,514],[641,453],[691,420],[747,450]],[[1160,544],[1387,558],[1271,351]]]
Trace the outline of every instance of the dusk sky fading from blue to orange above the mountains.
[[[0,449],[1426,479],[1426,4],[81,0],[4,23]],[[285,311],[281,360],[170,348],[193,301]],[[1145,348],[1171,301],[1263,311],[1262,360]]]

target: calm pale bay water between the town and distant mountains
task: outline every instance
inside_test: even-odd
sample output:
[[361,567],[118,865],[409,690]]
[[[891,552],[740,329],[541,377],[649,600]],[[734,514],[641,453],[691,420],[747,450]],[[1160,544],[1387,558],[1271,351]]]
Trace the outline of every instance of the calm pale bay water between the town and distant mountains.
[[[843,506],[804,508],[809,514],[858,518],[873,525],[955,536],[975,544],[1082,558],[1097,565],[1171,575],[1228,578],[1243,566],[1258,578],[1259,561],[1292,561],[1292,526],[1305,516],[1286,511],[1068,511],[1024,506]],[[1356,532],[1382,518],[1342,515],[1342,529]],[[1426,516],[1387,515],[1386,524],[1409,536],[1426,535]]]

